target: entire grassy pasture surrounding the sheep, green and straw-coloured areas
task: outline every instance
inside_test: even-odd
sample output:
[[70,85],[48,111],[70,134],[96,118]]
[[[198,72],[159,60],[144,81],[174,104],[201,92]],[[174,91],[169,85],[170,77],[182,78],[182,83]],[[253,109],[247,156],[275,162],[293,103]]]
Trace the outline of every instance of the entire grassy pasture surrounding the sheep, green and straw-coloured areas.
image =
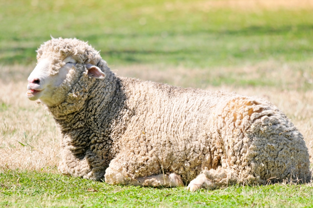
[[0,1],[0,207],[313,207],[313,183],[191,193],[59,174],[53,117],[25,96],[50,34],[89,41],[117,75],[263,97],[313,156],[312,0]]

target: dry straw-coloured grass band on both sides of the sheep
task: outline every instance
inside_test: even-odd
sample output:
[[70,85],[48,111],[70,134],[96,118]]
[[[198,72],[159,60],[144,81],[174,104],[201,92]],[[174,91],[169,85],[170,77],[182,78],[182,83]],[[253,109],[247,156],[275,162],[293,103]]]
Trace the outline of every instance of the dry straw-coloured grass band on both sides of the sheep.
[[[310,87],[312,76],[311,70],[302,70],[299,73],[299,69],[310,69],[311,65],[311,63],[286,65],[267,62],[253,66],[206,70],[137,65],[115,67],[112,70],[117,70],[114,72],[118,75],[166,82],[176,86],[236,91],[238,94],[263,97],[273,102],[291,118],[304,135],[309,153],[312,155],[313,90]],[[59,138],[53,117],[45,115],[42,106],[29,101],[25,96],[26,79],[32,69],[32,66],[0,68],[0,169],[47,170],[55,167],[59,161]],[[268,71],[272,72],[264,75],[264,70],[261,69],[271,69]],[[229,85],[215,87],[208,85],[203,79],[206,76],[214,79],[214,76],[227,75],[230,72],[238,79],[268,78],[274,79],[278,84],[257,87]]]

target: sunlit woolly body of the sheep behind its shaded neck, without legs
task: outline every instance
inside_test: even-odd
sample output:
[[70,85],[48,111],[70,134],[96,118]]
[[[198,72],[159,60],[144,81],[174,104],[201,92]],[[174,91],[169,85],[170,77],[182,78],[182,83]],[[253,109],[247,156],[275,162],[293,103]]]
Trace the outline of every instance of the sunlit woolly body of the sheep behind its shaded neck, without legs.
[[137,178],[231,169],[230,183],[310,178],[309,154],[290,120],[264,99],[121,78],[126,128],[110,168]]

